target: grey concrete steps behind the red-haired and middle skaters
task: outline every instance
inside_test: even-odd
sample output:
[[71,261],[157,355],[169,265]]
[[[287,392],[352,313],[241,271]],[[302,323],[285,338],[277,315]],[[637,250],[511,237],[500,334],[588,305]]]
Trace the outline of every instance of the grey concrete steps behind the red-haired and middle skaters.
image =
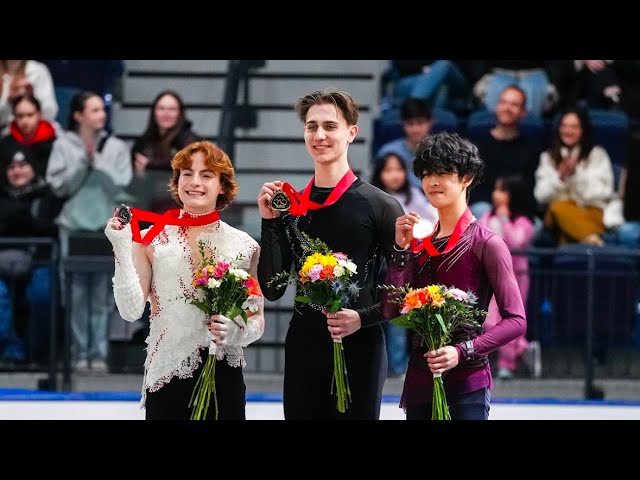
[[[144,130],[156,94],[176,90],[185,101],[194,130],[216,141],[228,60],[126,60],[120,102],[113,107],[117,135],[132,143]],[[249,77],[249,103],[257,109],[255,129],[237,129],[232,160],[240,191],[236,206],[243,214],[238,227],[259,236],[255,197],[265,180],[286,179],[302,188],[313,173],[302,125],[292,107],[312,90],[334,86],[351,93],[360,104],[360,131],[349,150],[352,167],[369,178],[373,119],[378,103],[379,75],[386,60],[266,60]],[[242,101],[242,88],[239,103]]]

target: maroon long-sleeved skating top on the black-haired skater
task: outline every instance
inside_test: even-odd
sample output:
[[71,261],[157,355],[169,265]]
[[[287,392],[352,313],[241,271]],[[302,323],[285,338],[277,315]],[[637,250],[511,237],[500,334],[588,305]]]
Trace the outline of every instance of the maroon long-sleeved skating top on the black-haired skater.
[[[443,251],[448,237],[433,241],[438,251]],[[478,296],[477,307],[488,310],[491,296],[495,294],[502,319],[495,328],[484,333],[483,329],[454,332],[452,345],[472,339],[476,358],[487,355],[526,331],[526,314],[522,296],[513,272],[511,253],[504,240],[476,221],[463,233],[456,246],[439,256],[429,256],[425,250],[409,253],[408,261],[401,266],[390,262],[385,283],[402,286],[407,283],[414,288],[430,284],[442,284],[461,290],[471,290]],[[388,301],[383,294],[383,314],[387,318],[398,316],[399,305]],[[484,319],[481,319],[482,321]],[[411,356],[404,382],[401,407],[431,403],[433,374],[423,354],[427,348],[419,345],[413,335]],[[458,352],[461,353],[460,348]],[[493,388],[491,369],[485,361],[460,363],[442,375],[447,398],[450,402],[468,392],[484,387]]]

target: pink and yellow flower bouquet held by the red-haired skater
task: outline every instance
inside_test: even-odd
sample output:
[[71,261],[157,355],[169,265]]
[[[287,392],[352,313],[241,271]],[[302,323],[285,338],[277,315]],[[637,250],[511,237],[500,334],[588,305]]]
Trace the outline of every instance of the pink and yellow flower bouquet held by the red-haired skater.
[[[258,281],[241,268],[233,268],[230,263],[224,261],[215,261],[215,255],[208,256],[205,248],[204,242],[198,242],[202,263],[191,282],[201,295],[187,299],[188,303],[205,312],[207,319],[214,314],[222,314],[231,319],[240,316],[246,324],[246,311],[256,312],[260,305],[262,292]],[[239,254],[235,261],[239,262],[241,259],[242,254]],[[212,394],[215,419],[218,419],[215,384],[216,351],[217,346],[212,341],[209,357],[189,401],[189,407],[192,408],[191,420],[204,420],[207,417]]]

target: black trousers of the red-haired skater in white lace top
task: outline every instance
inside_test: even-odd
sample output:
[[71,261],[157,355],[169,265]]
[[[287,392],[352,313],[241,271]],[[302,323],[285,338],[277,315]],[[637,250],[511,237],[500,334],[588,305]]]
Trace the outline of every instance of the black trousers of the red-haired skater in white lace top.
[[[147,420],[189,420],[189,400],[207,360],[208,349],[201,351],[202,364],[193,377],[173,377],[157,392],[147,392],[145,402]],[[227,360],[216,361],[216,396],[218,398],[218,420],[246,420],[246,387],[241,367],[231,367]],[[213,394],[207,420],[215,419]]]

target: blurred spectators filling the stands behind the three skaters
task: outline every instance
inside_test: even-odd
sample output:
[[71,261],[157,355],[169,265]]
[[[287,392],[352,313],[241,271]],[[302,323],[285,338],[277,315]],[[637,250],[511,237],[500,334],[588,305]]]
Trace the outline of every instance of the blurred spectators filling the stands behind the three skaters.
[[[541,350],[556,340],[583,338],[587,317],[593,327],[588,361],[604,362],[620,343],[625,352],[637,352],[637,277],[625,275],[635,275],[640,248],[640,61],[380,62],[361,175],[396,196],[407,211],[435,222],[437,214],[411,173],[420,139],[458,132],[478,146],[485,161],[483,181],[469,203],[476,218],[512,249],[530,322],[526,336],[492,359],[497,377],[545,374]],[[166,188],[173,154],[194,140],[215,140],[214,132],[194,127],[184,92],[169,83],[151,93],[138,133],[120,138],[112,108],[123,95],[126,69],[124,60],[0,60],[4,369],[48,365],[49,339],[64,330],[58,322],[58,331],[51,331],[52,296],[59,297],[60,318],[69,319],[72,368],[113,367],[111,274],[83,271],[65,281],[65,272],[48,261],[51,245],[37,239],[55,243],[62,261],[110,255],[102,229],[114,206],[174,208]],[[245,123],[252,123],[250,117]],[[595,300],[587,296],[582,310],[569,311],[573,301],[565,284],[581,285],[584,294],[593,275],[575,281],[548,273],[585,265],[588,270],[594,250],[610,253],[595,260],[599,272],[623,274],[596,279],[609,290],[592,284]],[[52,285],[53,275],[60,275],[59,288]],[[620,303],[622,310],[612,311],[609,304]],[[486,328],[493,326],[492,308]],[[577,323],[559,330],[549,325],[552,314]],[[138,335],[138,341],[144,338],[144,327]],[[387,328],[391,376],[406,369],[406,335]]]

